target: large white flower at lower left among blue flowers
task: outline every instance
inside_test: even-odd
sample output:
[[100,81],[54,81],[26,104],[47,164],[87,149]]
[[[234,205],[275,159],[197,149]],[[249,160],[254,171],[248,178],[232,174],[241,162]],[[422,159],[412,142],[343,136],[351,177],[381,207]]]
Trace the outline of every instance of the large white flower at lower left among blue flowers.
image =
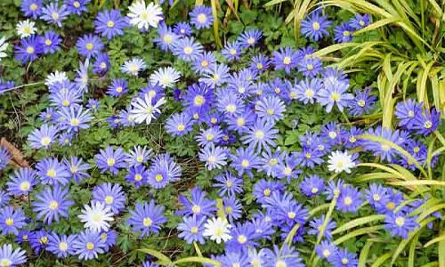
[[96,232],[108,231],[108,222],[114,220],[111,207],[99,201],[94,201],[91,206],[85,205],[82,214],[78,217],[82,223],[85,223],[85,228]]

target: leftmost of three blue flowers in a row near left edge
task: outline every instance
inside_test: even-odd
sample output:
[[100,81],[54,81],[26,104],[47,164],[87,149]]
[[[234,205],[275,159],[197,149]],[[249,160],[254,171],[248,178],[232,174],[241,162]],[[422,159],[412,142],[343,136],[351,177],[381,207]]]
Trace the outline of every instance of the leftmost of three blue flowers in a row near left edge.
[[33,190],[36,185],[36,172],[27,167],[20,167],[10,176],[8,185],[8,192],[15,195],[27,195],[29,191]]

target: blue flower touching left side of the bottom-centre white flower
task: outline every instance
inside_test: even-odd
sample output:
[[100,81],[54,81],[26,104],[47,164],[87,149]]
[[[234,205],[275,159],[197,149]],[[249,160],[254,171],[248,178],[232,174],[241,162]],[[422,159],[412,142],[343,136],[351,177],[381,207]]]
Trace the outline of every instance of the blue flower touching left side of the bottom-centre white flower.
[[182,218],[182,223],[178,224],[178,231],[181,231],[178,237],[184,239],[187,244],[191,244],[193,242],[204,244],[205,241],[202,233],[204,231],[205,222],[206,217],[197,219],[197,217],[194,215],[184,216]]

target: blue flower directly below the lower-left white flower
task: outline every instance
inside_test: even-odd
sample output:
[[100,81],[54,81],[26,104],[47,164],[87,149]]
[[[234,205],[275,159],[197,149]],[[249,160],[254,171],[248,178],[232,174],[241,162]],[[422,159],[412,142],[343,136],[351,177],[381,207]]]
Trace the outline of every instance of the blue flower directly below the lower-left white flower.
[[75,255],[80,260],[97,259],[100,254],[105,252],[105,244],[101,240],[100,231],[82,231],[77,234],[77,239],[72,244]]

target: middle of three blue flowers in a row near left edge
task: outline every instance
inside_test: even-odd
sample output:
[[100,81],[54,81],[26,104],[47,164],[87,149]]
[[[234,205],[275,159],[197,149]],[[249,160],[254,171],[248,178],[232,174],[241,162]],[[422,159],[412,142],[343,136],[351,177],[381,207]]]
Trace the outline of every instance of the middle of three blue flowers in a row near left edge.
[[71,179],[71,174],[57,158],[44,158],[37,162],[36,174],[43,184],[66,185]]

